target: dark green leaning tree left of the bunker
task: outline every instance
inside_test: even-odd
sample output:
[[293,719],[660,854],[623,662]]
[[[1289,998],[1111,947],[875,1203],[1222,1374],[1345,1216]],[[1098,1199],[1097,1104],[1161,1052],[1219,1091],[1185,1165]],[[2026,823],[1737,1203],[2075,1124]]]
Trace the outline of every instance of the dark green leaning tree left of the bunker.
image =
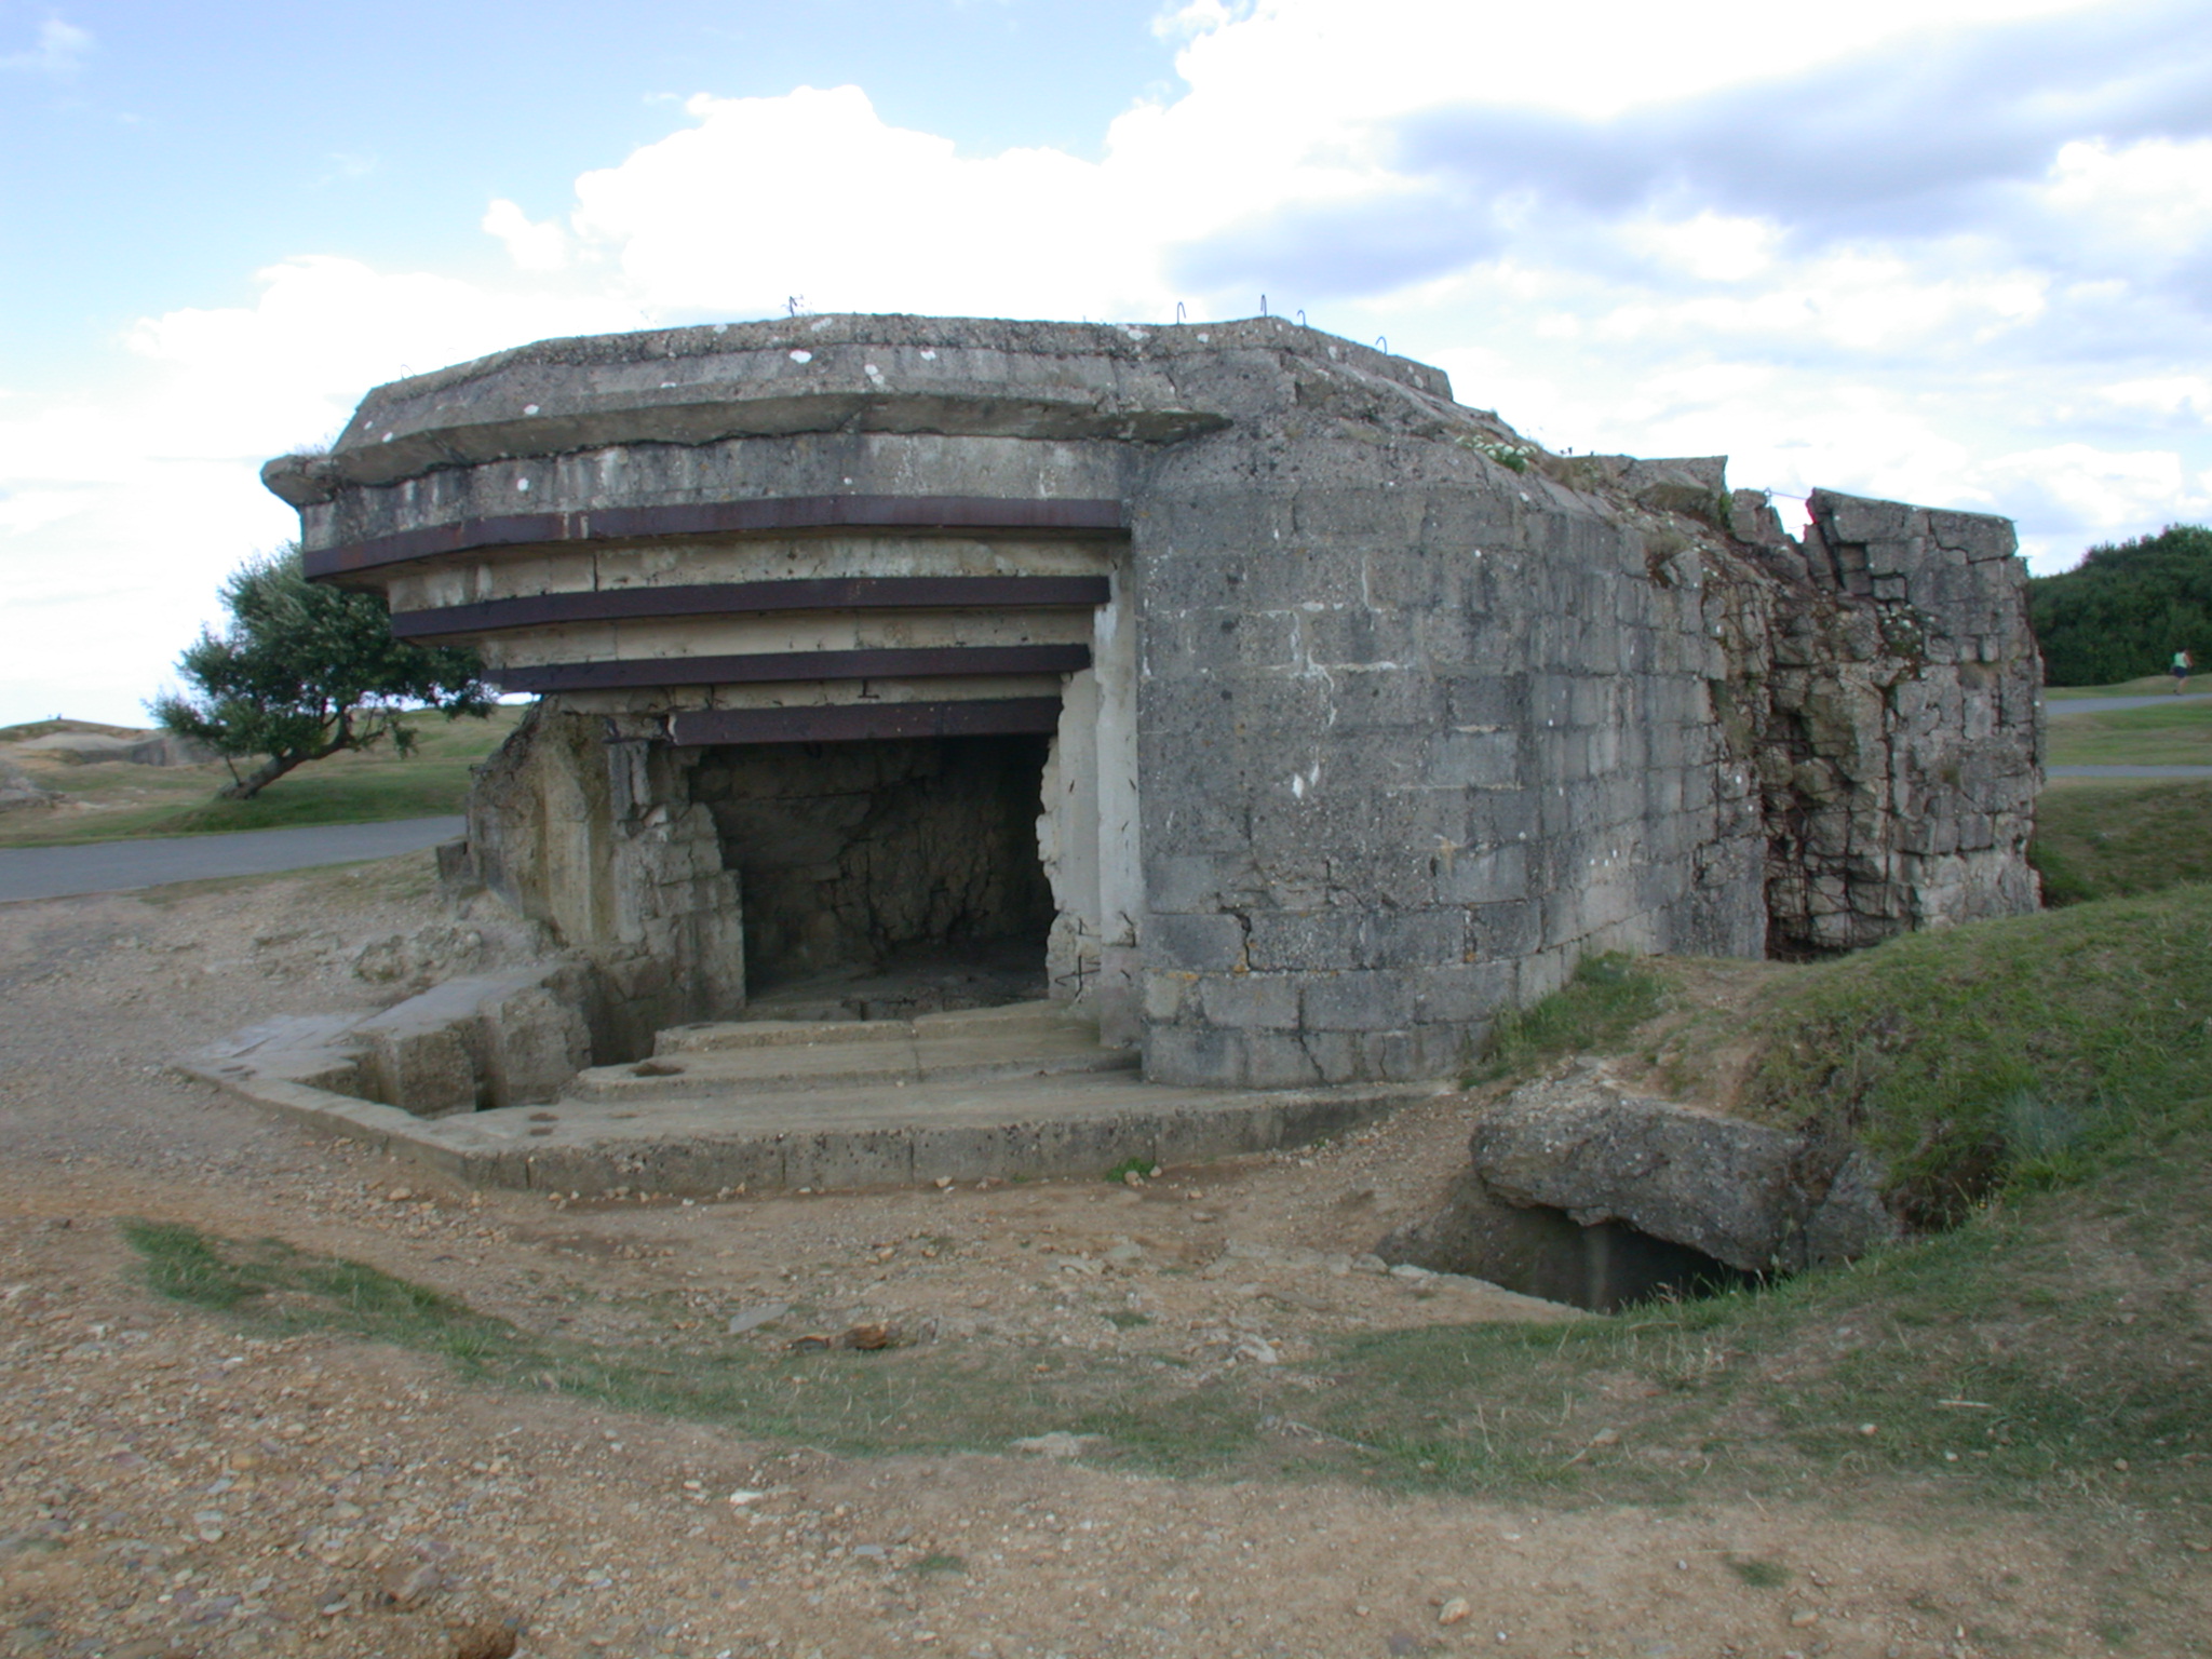
[[[230,763],[230,801],[250,801],[296,765],[392,741],[414,750],[407,714],[489,714],[491,690],[473,650],[409,646],[392,637],[376,593],[325,588],[301,575],[299,546],[252,560],[223,582],[223,633],[204,628],[177,659],[197,690],[148,708],[164,730],[210,745]],[[239,761],[265,757],[252,772]]]

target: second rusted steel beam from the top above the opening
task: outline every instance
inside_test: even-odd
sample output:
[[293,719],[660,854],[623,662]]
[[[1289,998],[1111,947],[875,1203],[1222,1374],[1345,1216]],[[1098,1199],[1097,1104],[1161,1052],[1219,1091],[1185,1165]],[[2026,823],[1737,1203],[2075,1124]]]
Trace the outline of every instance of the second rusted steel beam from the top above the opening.
[[635,617],[714,617],[759,611],[1033,611],[1097,606],[1113,595],[1102,575],[852,575],[790,582],[706,582],[668,588],[533,593],[520,599],[427,606],[392,615],[398,639]]

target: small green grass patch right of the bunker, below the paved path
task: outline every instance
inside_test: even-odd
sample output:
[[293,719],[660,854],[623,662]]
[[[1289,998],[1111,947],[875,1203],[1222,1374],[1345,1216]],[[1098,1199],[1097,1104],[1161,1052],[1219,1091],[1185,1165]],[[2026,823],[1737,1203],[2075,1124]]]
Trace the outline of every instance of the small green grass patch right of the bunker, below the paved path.
[[2068,783],[2035,803],[2046,905],[2212,880],[2212,781]]

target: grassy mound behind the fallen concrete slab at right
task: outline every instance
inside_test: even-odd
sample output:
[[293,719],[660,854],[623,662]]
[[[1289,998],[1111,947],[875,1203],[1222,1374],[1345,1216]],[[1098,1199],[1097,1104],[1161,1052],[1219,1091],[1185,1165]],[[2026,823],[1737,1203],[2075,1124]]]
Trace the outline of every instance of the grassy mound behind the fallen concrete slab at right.
[[1739,1106],[1854,1137],[1947,1225],[2212,1119],[2212,887],[1911,933],[1754,1013]]

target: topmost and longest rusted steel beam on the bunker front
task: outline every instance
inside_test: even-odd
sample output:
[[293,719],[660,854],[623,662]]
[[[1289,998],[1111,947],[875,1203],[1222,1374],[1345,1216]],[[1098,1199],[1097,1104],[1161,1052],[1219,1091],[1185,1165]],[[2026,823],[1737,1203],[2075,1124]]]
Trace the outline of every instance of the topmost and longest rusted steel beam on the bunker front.
[[509,513],[429,524],[396,535],[310,549],[301,568],[314,582],[383,571],[449,553],[546,542],[644,542],[668,535],[790,535],[801,531],[1022,531],[1031,535],[1121,538],[1117,500],[1022,500],[1004,495],[763,495],[743,502],[606,507],[577,513]]

